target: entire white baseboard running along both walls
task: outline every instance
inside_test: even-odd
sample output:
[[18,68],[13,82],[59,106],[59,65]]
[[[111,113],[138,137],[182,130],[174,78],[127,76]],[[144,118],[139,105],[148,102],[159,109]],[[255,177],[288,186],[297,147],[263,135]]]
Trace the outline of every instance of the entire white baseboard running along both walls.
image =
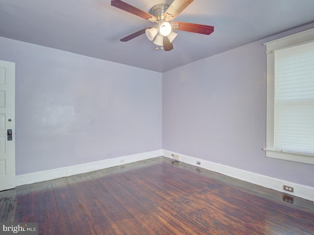
[[[39,171],[39,172],[34,172],[34,173],[29,173],[29,174],[24,174],[24,175],[17,175],[16,186],[27,185],[27,184],[62,178],[66,176],[82,174],[82,173],[86,173],[86,172],[90,172],[94,170],[109,168],[112,166],[134,163],[134,162],[138,162],[138,161],[142,161],[146,159],[156,158],[159,156],[164,156],[167,158],[175,159],[175,157],[171,156],[171,154],[178,155],[180,157],[179,161],[186,164],[195,165],[195,166],[207,169],[207,170],[211,170],[214,172],[218,172],[220,174],[233,177],[235,179],[243,180],[243,181],[246,181],[255,185],[259,185],[265,188],[271,188],[276,191],[288,193],[290,195],[294,195],[297,197],[314,201],[314,188],[313,187],[300,185],[300,184],[268,177],[265,175],[253,173],[250,171],[237,169],[231,166],[217,164],[217,163],[209,162],[203,159],[198,159],[198,158],[186,156],[186,155],[171,152],[168,150],[161,150],[161,149],[152,151],[152,152],[133,154],[129,156],[106,159],[106,160],[92,162],[92,163],[73,165],[73,166]],[[201,164],[196,164],[196,162],[200,162]],[[290,187],[293,187],[294,192],[284,191],[283,185],[288,185]]]

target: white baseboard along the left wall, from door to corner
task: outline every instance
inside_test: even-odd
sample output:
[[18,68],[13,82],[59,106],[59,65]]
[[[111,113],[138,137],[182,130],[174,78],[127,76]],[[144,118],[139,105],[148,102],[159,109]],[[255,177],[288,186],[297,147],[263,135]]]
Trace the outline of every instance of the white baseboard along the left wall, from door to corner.
[[145,152],[139,154],[133,154],[129,156],[123,156],[119,158],[113,159],[105,159],[102,161],[72,165],[68,167],[62,167],[52,170],[39,171],[24,175],[17,175],[15,178],[16,186],[27,185],[47,180],[53,180],[57,178],[62,178],[70,175],[82,174],[94,170],[101,170],[105,168],[109,168],[112,166],[123,165],[128,163],[134,163],[150,158],[160,157],[162,155],[162,150],[156,150],[152,152]]

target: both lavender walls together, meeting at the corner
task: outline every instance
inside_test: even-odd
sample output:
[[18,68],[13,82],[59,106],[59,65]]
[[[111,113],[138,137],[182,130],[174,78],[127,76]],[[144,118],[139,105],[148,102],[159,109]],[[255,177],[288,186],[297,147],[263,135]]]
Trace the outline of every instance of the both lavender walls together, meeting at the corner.
[[314,187],[314,165],[261,150],[262,43],[280,36],[163,74],[0,37],[16,63],[17,175],[163,148]]

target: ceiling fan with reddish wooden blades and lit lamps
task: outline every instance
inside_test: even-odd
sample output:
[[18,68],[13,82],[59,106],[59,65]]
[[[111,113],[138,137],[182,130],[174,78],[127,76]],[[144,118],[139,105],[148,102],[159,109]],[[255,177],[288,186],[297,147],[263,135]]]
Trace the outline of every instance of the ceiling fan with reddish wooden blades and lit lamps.
[[155,23],[154,27],[147,27],[127,37],[120,39],[121,42],[128,42],[144,33],[149,40],[156,45],[163,48],[165,51],[173,49],[172,41],[178,35],[172,30],[181,30],[192,33],[201,33],[209,35],[214,31],[213,26],[203,24],[192,24],[185,22],[173,22],[173,20],[192,2],[193,0],[173,0],[169,5],[157,4],[152,7],[151,12],[147,13],[121,0],[111,0],[111,5],[121,10],[130,12],[145,20]]

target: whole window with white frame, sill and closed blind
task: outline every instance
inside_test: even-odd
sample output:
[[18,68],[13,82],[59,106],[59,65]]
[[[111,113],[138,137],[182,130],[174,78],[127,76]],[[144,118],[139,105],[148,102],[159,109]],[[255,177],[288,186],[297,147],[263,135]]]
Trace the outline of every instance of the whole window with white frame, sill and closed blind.
[[314,164],[314,29],[266,45],[266,157]]

